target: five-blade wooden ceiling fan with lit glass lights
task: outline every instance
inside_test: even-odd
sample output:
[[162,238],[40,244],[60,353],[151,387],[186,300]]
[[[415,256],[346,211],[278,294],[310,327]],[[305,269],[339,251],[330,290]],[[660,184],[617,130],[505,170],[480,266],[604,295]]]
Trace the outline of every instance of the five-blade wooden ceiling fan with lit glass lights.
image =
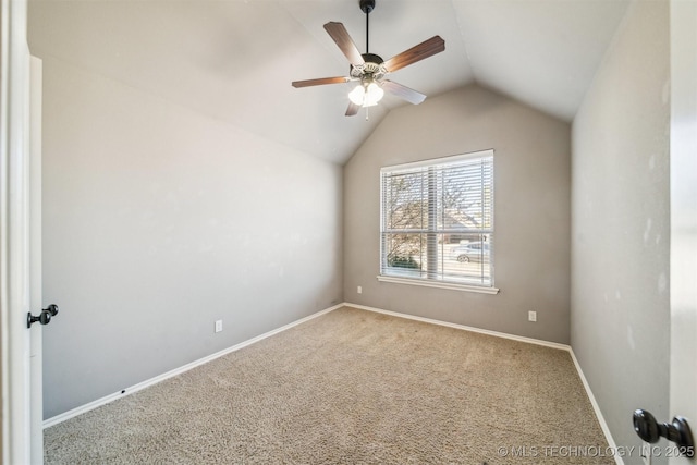
[[329,22],[325,24],[325,30],[337,42],[341,51],[348,59],[351,70],[348,76],[339,77],[320,77],[317,79],[295,81],[293,87],[309,87],[323,84],[342,84],[352,81],[360,83],[348,94],[348,108],[346,117],[353,117],[358,113],[363,107],[372,107],[380,101],[384,90],[393,94],[404,100],[418,105],[424,101],[426,96],[414,89],[401,84],[386,79],[384,76],[401,70],[404,66],[416,63],[436,53],[445,50],[445,41],[440,36],[433,36],[421,44],[412,47],[408,50],[399,53],[391,59],[384,61],[381,57],[368,52],[369,45],[369,17],[370,12],[375,9],[375,0],[360,0],[360,10],[366,14],[366,52],[360,53],[358,48],[351,39],[346,28],[341,23]]

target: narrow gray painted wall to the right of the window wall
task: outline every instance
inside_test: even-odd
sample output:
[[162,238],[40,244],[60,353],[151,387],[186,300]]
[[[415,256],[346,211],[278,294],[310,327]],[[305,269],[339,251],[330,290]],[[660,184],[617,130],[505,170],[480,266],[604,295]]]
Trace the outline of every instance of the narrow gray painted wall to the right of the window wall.
[[668,13],[631,8],[573,124],[572,346],[620,445],[669,419]]

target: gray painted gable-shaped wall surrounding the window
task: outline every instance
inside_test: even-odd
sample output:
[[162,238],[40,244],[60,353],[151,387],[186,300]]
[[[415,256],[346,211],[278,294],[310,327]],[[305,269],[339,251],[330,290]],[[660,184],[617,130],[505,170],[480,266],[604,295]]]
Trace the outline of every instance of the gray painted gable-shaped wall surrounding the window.
[[[378,282],[380,168],[493,148],[498,295]],[[391,111],[344,168],[344,298],[568,343],[571,126],[472,85]],[[356,292],[363,287],[363,294]],[[528,322],[537,310],[538,322]]]

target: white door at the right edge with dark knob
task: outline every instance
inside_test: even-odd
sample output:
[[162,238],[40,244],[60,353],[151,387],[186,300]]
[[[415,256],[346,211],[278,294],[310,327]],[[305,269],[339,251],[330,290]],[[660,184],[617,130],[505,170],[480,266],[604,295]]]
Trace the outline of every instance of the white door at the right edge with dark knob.
[[670,418],[661,420],[685,417],[697,437],[697,1],[670,7],[671,393]]

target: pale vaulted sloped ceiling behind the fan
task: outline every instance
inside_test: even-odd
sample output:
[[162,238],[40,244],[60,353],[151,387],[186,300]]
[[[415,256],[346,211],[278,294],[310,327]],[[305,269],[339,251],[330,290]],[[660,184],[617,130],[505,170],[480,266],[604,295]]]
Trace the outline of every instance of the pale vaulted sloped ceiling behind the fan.
[[[377,0],[370,52],[389,59],[440,35],[444,52],[390,78],[431,97],[476,82],[571,121],[628,4]],[[329,21],[365,51],[358,0],[30,0],[29,48],[343,163],[390,109],[409,103],[388,96],[368,120],[346,118],[351,83],[291,87],[347,74]]]

